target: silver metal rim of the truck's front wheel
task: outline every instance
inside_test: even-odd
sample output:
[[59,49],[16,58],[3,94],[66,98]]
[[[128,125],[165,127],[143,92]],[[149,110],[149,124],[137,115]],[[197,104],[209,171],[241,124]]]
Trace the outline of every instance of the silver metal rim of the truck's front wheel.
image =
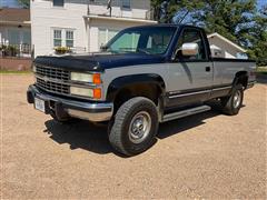
[[129,139],[134,143],[141,143],[151,130],[151,117],[146,111],[138,112],[129,126]]

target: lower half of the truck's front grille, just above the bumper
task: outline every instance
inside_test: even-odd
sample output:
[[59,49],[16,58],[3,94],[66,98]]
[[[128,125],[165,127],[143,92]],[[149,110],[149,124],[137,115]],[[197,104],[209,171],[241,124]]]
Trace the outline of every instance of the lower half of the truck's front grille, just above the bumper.
[[59,94],[69,94],[69,86],[58,82],[44,81],[37,78],[37,86],[46,91],[59,93]]

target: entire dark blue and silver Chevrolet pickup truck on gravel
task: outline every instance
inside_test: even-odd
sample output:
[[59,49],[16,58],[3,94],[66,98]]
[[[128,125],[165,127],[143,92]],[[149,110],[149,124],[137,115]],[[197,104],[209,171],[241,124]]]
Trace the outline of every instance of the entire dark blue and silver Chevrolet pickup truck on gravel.
[[152,146],[158,124],[210,110],[239,112],[255,83],[253,60],[212,58],[205,31],[157,24],[119,32],[101,52],[37,57],[27,91],[37,110],[68,123],[108,122],[111,146],[135,156]]

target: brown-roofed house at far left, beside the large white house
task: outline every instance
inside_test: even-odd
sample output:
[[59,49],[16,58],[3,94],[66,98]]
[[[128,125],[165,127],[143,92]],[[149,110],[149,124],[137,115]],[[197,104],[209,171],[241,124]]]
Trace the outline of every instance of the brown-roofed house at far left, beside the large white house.
[[13,46],[30,54],[30,10],[0,8],[0,46]]

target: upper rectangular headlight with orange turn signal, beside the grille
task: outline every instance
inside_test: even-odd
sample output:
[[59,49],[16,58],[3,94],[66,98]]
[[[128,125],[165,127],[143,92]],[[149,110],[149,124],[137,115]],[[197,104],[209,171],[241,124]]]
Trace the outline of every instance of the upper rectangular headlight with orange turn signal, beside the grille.
[[71,72],[70,79],[73,81],[80,81],[80,82],[91,82],[95,84],[101,83],[101,77],[100,73],[79,73],[79,72]]

